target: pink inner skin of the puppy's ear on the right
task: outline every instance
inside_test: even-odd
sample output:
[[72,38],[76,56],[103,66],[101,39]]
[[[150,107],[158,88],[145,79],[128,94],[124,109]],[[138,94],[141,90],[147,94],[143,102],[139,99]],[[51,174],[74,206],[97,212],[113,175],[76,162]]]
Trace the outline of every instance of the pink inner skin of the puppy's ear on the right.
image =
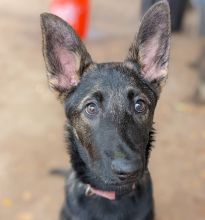
[[147,80],[153,80],[165,75],[165,71],[156,63],[159,50],[159,37],[156,35],[149,42],[141,45],[139,57],[142,66],[142,74]]

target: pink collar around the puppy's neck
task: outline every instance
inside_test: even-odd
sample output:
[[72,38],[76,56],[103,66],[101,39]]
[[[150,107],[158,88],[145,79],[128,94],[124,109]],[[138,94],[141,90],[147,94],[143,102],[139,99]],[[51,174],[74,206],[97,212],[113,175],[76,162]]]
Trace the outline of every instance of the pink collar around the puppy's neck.
[[136,183],[133,183],[132,185],[127,185],[124,187],[117,187],[115,191],[104,191],[104,190],[99,190],[94,187],[91,187],[90,185],[87,186],[86,189],[86,195],[87,196],[100,196],[108,200],[117,200],[120,199],[121,197],[131,193],[136,189]]

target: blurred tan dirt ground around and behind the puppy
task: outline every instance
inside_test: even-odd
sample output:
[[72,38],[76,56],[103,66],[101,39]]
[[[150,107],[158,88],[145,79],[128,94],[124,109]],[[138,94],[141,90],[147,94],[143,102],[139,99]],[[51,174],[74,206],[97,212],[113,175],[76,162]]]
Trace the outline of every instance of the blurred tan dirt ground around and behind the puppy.
[[[46,0],[0,2],[0,219],[57,219],[69,165],[63,108],[47,88],[39,14]],[[139,1],[95,0],[86,45],[98,62],[122,60],[137,29]],[[205,106],[190,102],[200,47],[193,12],[172,37],[170,77],[157,111],[150,170],[158,220],[205,219]]]

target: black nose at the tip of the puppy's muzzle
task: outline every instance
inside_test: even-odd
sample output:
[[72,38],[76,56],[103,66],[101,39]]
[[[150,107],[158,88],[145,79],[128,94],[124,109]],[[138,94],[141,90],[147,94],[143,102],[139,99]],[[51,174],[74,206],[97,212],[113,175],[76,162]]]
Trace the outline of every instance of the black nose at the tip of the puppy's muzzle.
[[140,162],[137,160],[115,159],[111,164],[113,173],[117,175],[120,180],[135,176],[140,170],[140,167]]

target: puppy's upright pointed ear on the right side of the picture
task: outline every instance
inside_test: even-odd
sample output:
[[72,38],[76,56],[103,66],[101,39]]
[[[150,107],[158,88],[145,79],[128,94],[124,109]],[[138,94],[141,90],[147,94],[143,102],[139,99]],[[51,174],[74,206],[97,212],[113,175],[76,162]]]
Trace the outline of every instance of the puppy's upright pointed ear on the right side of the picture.
[[142,77],[161,87],[167,78],[170,47],[170,10],[167,1],[156,3],[144,15],[125,64],[140,68]]

